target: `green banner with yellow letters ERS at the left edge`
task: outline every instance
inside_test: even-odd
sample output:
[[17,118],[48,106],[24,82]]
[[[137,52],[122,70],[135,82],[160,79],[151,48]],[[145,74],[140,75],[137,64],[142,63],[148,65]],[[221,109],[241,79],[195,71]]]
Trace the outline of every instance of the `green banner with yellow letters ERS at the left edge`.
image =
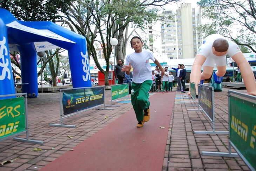
[[0,100],[0,139],[25,131],[23,97]]

